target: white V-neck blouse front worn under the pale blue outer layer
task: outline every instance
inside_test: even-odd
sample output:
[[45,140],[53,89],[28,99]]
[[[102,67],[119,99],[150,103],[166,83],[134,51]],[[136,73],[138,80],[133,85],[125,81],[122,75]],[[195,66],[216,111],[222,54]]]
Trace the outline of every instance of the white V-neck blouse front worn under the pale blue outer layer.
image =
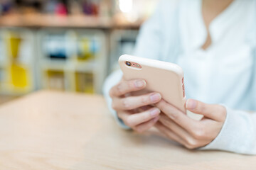
[[209,26],[212,44],[202,50],[207,31],[201,1],[182,1],[179,17],[183,53],[176,62],[183,68],[188,98],[223,103],[235,109],[252,109],[251,103],[241,101],[247,101],[245,92],[252,77],[254,49],[245,43],[253,14],[251,2],[233,1],[220,13]]

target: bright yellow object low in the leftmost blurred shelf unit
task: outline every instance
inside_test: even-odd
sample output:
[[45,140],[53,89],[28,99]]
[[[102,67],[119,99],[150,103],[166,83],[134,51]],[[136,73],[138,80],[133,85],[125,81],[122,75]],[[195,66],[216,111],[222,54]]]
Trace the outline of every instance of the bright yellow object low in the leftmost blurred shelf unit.
[[28,82],[28,69],[18,64],[11,64],[11,85],[16,88],[27,88],[30,86]]

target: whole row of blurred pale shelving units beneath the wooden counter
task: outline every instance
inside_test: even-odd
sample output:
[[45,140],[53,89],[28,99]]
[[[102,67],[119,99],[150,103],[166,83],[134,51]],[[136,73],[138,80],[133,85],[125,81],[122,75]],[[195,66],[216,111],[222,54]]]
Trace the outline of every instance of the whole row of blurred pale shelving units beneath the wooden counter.
[[132,54],[137,33],[0,28],[0,94],[22,95],[36,89],[100,94],[119,55]]

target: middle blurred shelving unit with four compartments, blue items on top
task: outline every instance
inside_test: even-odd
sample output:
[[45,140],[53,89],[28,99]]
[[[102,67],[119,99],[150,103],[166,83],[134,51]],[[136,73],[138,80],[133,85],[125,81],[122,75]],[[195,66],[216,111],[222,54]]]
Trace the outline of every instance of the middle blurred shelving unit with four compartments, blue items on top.
[[41,30],[38,47],[41,88],[101,92],[107,69],[106,38],[102,31]]

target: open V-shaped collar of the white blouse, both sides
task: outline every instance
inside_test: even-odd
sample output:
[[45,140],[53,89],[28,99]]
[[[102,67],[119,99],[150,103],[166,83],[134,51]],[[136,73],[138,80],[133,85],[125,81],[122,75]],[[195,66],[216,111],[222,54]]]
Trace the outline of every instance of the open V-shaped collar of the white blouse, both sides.
[[[206,42],[207,30],[202,16],[202,0],[183,0],[180,9],[181,42],[184,50],[200,50]],[[240,22],[245,23],[252,0],[235,0],[210,23],[209,32],[214,45],[233,30],[234,26],[240,27]],[[239,30],[239,29],[238,29]],[[239,34],[239,33],[238,33]],[[211,46],[210,46],[211,47]],[[209,47],[209,48],[210,48]]]

